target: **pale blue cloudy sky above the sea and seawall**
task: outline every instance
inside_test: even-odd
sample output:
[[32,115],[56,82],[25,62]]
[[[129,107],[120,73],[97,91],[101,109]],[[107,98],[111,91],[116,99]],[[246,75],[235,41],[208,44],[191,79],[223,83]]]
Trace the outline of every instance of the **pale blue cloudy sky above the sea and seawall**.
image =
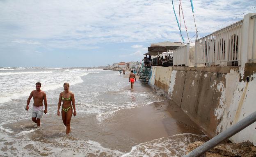
[[[199,38],[256,13],[256,0],[192,1]],[[194,42],[190,0],[181,4]],[[179,0],[174,9],[179,18]],[[181,30],[187,43],[182,14]],[[136,62],[164,41],[181,41],[171,0],[0,0],[0,67]]]

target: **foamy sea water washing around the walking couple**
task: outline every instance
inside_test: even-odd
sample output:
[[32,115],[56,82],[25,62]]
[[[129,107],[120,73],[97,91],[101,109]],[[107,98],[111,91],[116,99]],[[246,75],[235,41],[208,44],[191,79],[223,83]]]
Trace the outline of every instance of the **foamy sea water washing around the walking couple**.
[[[29,111],[25,110],[36,82],[41,82],[48,102],[48,113],[43,115],[39,128],[31,120],[33,99]],[[75,95],[77,111],[71,119],[69,135],[57,116],[64,82],[69,82]],[[118,111],[165,99],[139,79],[134,88],[145,90],[130,90],[128,78],[118,71],[0,68],[0,157],[181,157],[188,144],[205,138],[183,133],[135,143],[129,135],[106,130],[105,119],[111,119]]]

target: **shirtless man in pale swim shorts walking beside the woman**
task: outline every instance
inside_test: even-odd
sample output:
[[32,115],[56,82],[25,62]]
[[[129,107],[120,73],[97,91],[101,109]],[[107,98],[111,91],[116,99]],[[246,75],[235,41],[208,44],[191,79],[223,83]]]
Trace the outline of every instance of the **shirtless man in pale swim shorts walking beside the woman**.
[[[26,110],[28,111],[29,107],[29,103],[31,98],[33,97],[34,100],[34,104],[33,104],[33,108],[32,108],[32,121],[37,123],[37,126],[40,126],[40,119],[43,116],[43,113],[46,114],[47,113],[47,100],[46,100],[46,93],[44,91],[41,91],[41,83],[37,82],[36,83],[36,90],[32,91],[30,93],[30,96],[27,99],[27,106],[26,106]],[[44,102],[44,112],[43,112],[43,102]]]

